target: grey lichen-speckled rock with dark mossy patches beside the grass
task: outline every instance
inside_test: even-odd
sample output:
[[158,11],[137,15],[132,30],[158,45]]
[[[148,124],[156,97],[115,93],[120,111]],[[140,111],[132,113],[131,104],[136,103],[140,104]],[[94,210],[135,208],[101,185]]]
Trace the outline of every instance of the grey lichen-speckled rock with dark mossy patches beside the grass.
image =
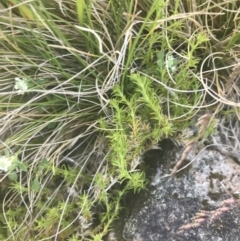
[[240,241],[240,165],[195,144],[172,178],[169,173],[183,149],[170,141],[164,145],[147,154],[146,162],[155,163],[150,165],[151,187],[136,201],[124,239]]

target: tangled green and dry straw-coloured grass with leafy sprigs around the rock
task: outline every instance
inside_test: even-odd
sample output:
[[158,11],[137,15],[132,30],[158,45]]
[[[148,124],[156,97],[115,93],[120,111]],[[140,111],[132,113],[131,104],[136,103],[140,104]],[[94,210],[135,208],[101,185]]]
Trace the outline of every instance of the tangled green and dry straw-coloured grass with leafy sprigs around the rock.
[[103,240],[144,151],[235,111],[239,5],[1,1],[1,240]]

